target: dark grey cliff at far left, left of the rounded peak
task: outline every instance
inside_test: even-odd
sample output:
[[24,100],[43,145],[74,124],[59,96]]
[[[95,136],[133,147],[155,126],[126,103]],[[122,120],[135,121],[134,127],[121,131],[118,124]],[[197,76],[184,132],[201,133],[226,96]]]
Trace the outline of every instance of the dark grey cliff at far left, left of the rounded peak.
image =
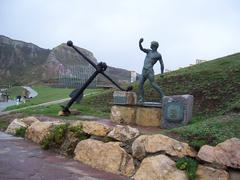
[[1,84],[25,84],[38,81],[43,72],[42,64],[46,62],[49,53],[50,50],[32,43],[0,36]]

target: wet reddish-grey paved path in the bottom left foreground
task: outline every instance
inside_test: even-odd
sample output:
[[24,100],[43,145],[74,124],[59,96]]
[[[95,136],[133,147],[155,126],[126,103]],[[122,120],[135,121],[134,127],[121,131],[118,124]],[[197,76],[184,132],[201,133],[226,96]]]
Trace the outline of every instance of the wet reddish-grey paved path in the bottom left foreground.
[[39,145],[0,132],[0,179],[22,180],[123,180],[68,159]]

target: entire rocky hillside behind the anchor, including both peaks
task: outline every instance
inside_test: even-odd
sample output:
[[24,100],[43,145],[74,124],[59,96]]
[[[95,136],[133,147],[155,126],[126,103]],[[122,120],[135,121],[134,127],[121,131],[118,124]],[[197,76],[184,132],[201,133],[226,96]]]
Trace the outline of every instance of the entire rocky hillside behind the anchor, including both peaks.
[[[93,53],[79,48],[92,61],[97,63]],[[89,67],[89,64],[66,44],[52,50],[40,48],[32,43],[13,40],[0,35],[0,84],[29,84],[44,82],[57,83],[59,71],[70,72],[75,67]],[[108,67],[107,73],[119,83],[130,80],[130,72]],[[109,85],[103,77],[98,78],[101,86]]]

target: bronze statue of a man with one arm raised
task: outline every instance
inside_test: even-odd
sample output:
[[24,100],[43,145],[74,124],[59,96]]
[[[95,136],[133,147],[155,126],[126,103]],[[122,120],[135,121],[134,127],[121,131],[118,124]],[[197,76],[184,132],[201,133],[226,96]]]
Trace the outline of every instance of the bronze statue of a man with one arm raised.
[[164,96],[163,91],[161,88],[157,85],[157,83],[154,81],[154,70],[153,66],[156,64],[157,61],[160,62],[161,65],[161,73],[164,72],[164,65],[161,54],[157,51],[158,48],[158,42],[152,41],[151,42],[151,49],[144,49],[142,47],[143,38],[139,40],[139,48],[143,52],[145,52],[147,55],[144,60],[144,65],[142,69],[142,75],[140,79],[140,87],[139,87],[139,102],[144,102],[144,82],[148,79],[150,81],[150,84],[152,87],[160,94],[161,98]]

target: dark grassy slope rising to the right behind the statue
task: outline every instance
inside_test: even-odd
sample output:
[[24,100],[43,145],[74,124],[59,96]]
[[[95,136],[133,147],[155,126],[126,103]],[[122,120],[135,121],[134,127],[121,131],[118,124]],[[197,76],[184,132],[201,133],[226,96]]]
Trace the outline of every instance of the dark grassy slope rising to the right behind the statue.
[[[219,113],[239,107],[240,53],[156,76],[166,95],[192,94],[195,113]],[[136,89],[136,87],[135,87]],[[158,97],[145,86],[148,98]],[[233,107],[232,105],[235,104]]]

